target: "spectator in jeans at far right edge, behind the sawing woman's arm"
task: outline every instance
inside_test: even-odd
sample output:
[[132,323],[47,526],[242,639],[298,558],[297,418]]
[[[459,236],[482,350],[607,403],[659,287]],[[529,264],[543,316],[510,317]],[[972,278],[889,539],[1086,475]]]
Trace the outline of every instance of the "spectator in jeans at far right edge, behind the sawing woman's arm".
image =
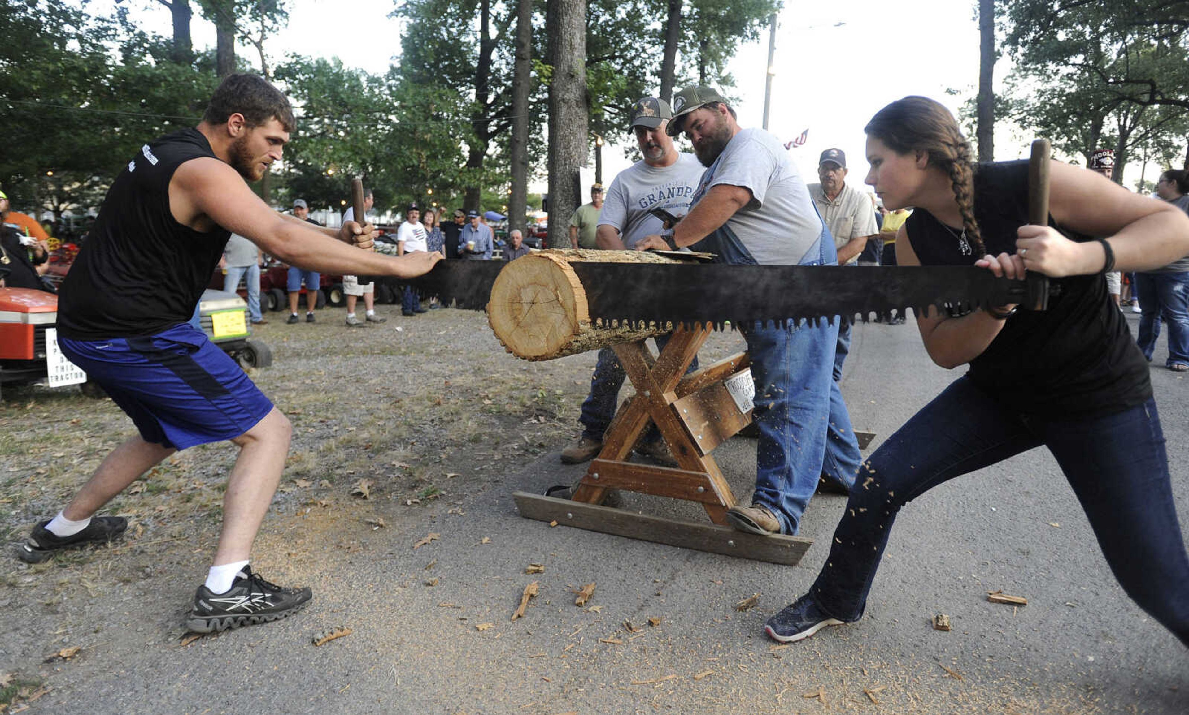
[[[1169,170],[1156,183],[1156,195],[1189,214],[1189,177]],[[1152,361],[1156,338],[1160,336],[1160,318],[1169,325],[1169,369],[1189,371],[1189,255],[1163,268],[1135,273],[1139,297],[1139,337],[1144,358]]]

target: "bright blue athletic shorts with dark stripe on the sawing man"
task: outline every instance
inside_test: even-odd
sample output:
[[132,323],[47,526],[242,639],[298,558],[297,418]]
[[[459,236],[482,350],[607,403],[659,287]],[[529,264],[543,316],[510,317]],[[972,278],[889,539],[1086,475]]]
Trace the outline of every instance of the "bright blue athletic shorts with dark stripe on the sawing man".
[[145,442],[185,449],[232,439],[272,410],[239,365],[189,323],[141,337],[58,337],[58,344]]

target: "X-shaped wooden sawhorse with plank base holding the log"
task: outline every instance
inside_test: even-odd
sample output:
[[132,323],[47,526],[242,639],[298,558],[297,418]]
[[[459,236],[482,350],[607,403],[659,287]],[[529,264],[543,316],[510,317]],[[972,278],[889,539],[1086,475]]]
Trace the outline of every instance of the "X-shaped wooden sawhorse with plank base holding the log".
[[[731,396],[736,382],[751,385],[750,360],[746,353],[740,353],[686,375],[686,368],[709,336],[705,327],[678,328],[655,358],[643,341],[615,346],[615,354],[636,394],[611,422],[603,436],[603,450],[591,462],[573,499],[516,492],[516,507],[521,515],[673,546],[795,565],[813,543],[812,539],[757,536],[725,525],[726,510],[735,506],[735,495],[710,453],[751,422],[750,409],[743,411]],[[628,461],[649,422],[660,430],[677,458],[677,468]],[[599,506],[609,489],[697,501],[706,510],[712,524],[678,521]]]

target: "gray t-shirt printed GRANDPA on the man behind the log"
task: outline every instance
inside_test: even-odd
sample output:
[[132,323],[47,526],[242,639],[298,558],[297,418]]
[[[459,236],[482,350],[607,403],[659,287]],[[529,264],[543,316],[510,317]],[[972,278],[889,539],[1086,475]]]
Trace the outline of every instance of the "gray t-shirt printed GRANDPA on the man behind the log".
[[640,160],[611,182],[599,215],[599,226],[611,226],[629,249],[636,241],[665,230],[660,219],[648,211],[665,209],[678,219],[690,213],[693,190],[705,167],[693,154],[680,153],[668,166],[652,166]]

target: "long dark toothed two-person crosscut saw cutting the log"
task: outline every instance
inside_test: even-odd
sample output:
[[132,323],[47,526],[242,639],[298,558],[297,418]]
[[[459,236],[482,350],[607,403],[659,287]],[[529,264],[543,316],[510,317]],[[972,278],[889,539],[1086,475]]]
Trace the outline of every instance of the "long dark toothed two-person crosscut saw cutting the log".
[[[1049,143],[1034,141],[1028,181],[1032,223],[1048,223],[1048,157]],[[726,323],[816,323],[837,317],[867,321],[873,316],[905,315],[910,308],[918,315],[931,306],[961,315],[1008,303],[1044,310],[1050,296],[1049,280],[1039,273],[1006,279],[975,266],[726,265],[700,262],[706,254],[685,252],[660,252],[688,258],[685,261],[615,262],[599,257],[611,259],[618,252],[552,253],[575,257],[568,265],[581,281],[589,317],[610,327],[710,323],[722,328]],[[407,283],[443,304],[484,310],[496,278],[511,265],[442,260],[429,273]],[[545,302],[549,299],[543,297]]]

